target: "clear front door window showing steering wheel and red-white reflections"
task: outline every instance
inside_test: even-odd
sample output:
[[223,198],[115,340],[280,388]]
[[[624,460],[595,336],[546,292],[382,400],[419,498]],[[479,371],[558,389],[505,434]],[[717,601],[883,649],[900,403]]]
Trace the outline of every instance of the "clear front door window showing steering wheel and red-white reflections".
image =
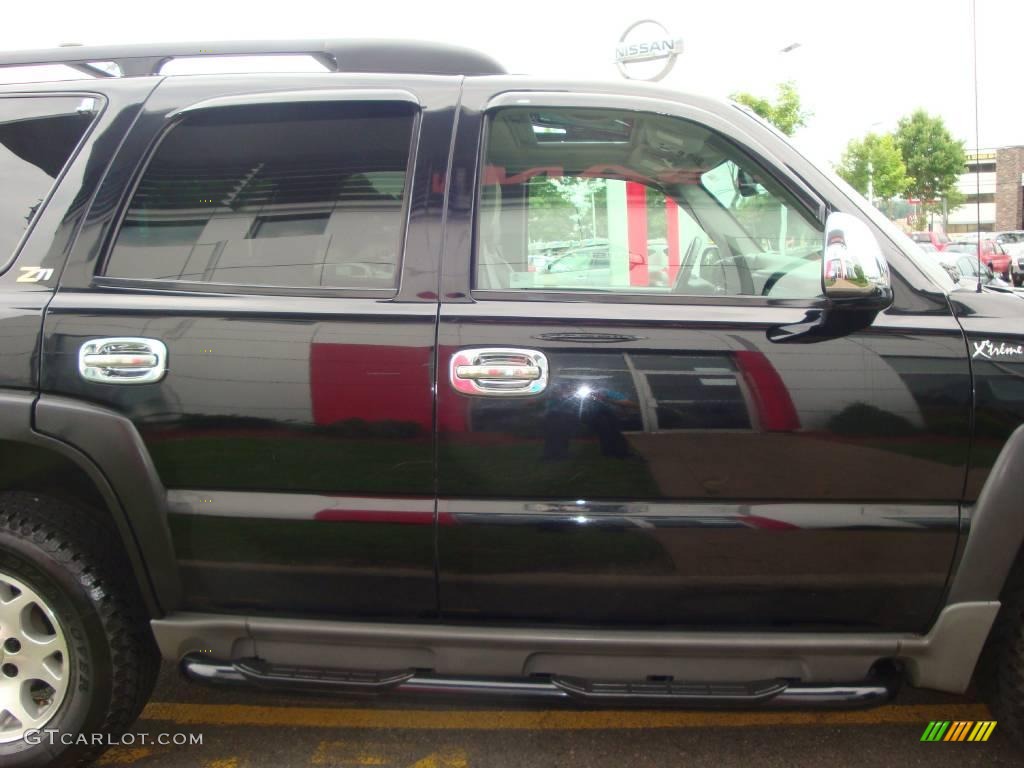
[[489,116],[477,289],[812,299],[822,239],[778,182],[690,121],[536,106]]

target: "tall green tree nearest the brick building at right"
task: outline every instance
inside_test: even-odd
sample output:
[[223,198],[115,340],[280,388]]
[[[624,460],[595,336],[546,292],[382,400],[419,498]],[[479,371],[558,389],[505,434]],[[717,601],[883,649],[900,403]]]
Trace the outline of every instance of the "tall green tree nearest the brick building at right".
[[956,188],[967,161],[964,142],[952,137],[942,118],[916,110],[900,119],[895,138],[906,171],[913,178],[907,194],[923,204],[919,219],[928,211],[941,211],[943,198],[950,209],[964,202]]

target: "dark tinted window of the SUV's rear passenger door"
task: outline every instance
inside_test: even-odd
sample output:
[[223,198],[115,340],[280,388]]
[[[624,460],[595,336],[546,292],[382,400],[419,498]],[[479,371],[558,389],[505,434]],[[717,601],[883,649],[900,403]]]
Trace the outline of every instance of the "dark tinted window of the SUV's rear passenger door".
[[200,112],[164,137],[105,274],[393,289],[416,108],[323,102]]

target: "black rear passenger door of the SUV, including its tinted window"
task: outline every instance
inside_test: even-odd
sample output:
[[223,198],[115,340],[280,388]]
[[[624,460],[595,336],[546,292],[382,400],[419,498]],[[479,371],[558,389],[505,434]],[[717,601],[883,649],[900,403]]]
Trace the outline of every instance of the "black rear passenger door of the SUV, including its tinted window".
[[436,614],[437,231],[455,78],[169,79],[45,322],[131,420],[185,610]]

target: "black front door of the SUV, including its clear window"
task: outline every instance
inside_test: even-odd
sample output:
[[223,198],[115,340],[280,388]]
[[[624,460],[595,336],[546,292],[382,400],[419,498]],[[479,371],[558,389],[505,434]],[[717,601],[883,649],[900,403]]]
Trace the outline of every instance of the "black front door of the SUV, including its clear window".
[[[804,336],[826,308],[824,216],[848,200],[801,181],[738,110],[551,90],[470,83],[463,99],[442,615],[923,631],[969,436],[944,296],[893,266],[892,308]],[[539,274],[566,242],[605,244],[605,274]]]

